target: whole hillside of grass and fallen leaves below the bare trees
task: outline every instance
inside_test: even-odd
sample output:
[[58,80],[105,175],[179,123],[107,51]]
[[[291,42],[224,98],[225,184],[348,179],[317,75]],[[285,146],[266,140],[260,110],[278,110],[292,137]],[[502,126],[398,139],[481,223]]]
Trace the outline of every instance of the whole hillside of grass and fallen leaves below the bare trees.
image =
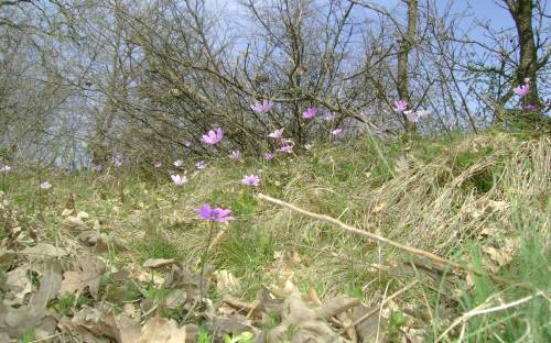
[[[0,341],[551,341],[549,137],[357,140],[195,162],[3,173]],[[202,219],[204,203],[235,220]]]

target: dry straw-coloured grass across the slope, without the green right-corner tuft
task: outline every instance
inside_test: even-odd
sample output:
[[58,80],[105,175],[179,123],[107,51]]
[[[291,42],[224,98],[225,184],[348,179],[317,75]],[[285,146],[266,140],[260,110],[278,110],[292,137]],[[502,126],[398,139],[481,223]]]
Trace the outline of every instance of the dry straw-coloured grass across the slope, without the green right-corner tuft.
[[[376,175],[380,161],[372,148],[360,145],[323,147],[288,163],[213,163],[177,189],[165,177],[136,182],[136,175],[125,175],[126,203],[118,200],[115,176],[86,176],[85,189],[78,189],[83,186],[76,180],[74,189],[56,191],[62,192],[58,199],[65,199],[68,192],[79,193],[78,206],[94,213],[104,230],[130,247],[119,254],[123,261],[143,259],[133,246],[156,240],[176,247],[180,257],[196,265],[207,229],[194,208],[203,202],[242,206],[248,200],[236,199],[247,199],[240,185],[245,174],[259,174],[262,191],[268,195],[450,256],[464,251],[465,242],[485,228],[498,228],[504,234],[512,231],[509,209],[514,199],[526,199],[541,212],[549,210],[549,143],[545,137],[517,142],[510,135],[490,133],[421,143],[422,147],[434,147],[434,153],[419,148],[419,144],[393,151],[383,147],[395,168],[393,177]],[[61,212],[62,202],[54,204],[54,212]],[[391,278],[386,265],[401,258],[391,248],[366,243],[326,224],[271,207],[250,206],[255,206],[252,212],[241,214],[213,248],[213,262],[228,267],[227,254],[235,254],[244,264],[236,270],[257,283],[271,281],[257,275],[273,262],[273,256],[262,254],[298,251],[303,263],[296,278],[304,287],[315,286],[328,296],[356,287],[369,298]],[[262,240],[269,240],[264,242],[269,246],[255,251],[255,244],[264,244]]]

